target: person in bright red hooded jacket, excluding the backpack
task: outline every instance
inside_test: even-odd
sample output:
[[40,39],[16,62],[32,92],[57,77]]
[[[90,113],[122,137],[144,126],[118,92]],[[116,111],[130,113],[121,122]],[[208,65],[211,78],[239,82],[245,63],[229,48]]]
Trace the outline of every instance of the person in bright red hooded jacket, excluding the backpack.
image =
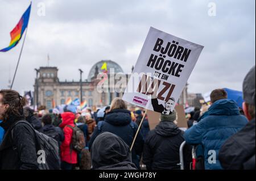
[[64,112],[61,114],[61,117],[62,123],[59,127],[63,128],[64,132],[64,141],[60,145],[61,169],[72,170],[73,165],[77,163],[77,152],[72,149],[71,145],[73,130],[67,127],[67,125],[75,127],[75,115],[72,112]]

